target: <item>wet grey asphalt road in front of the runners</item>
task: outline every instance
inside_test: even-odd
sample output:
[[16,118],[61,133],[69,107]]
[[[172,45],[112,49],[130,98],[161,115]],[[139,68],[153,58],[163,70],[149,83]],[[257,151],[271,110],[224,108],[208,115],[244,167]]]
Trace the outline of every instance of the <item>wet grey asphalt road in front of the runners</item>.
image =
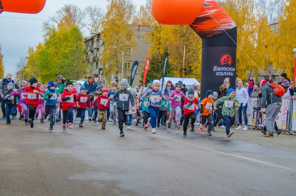
[[[295,196],[296,152],[204,132],[0,120],[0,196]],[[216,135],[216,136],[215,136]],[[246,137],[248,137],[246,135]],[[245,139],[246,139],[245,137]],[[244,136],[243,136],[244,138]],[[290,142],[291,143],[291,142]],[[293,144],[293,142],[292,142]],[[294,143],[295,144],[295,143]],[[276,146],[276,145],[275,145]],[[287,145],[286,145],[287,146]],[[289,146],[288,146],[289,147]]]

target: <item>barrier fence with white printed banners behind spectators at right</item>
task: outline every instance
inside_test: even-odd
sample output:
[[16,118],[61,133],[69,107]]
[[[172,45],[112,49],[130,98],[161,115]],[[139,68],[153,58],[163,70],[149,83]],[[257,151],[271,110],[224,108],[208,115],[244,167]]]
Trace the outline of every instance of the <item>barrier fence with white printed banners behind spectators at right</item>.
[[[253,109],[254,107],[258,107],[260,105],[261,98],[249,98],[247,102],[247,125],[257,128],[265,126],[265,114],[261,114],[260,110]],[[243,114],[242,122],[244,122]],[[291,98],[282,98],[282,106],[275,122],[279,129],[288,131],[289,135],[296,132],[296,100],[292,100]],[[235,123],[239,123],[237,113]]]

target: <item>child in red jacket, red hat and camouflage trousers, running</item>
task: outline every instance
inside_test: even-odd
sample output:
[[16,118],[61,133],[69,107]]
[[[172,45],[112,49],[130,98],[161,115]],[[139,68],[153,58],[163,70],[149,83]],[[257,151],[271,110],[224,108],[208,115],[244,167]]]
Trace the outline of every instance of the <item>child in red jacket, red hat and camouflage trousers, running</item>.
[[98,121],[102,121],[102,129],[105,129],[107,121],[107,108],[110,106],[110,99],[107,97],[108,88],[104,87],[102,90],[102,95],[100,95],[93,103],[93,107],[98,108]]

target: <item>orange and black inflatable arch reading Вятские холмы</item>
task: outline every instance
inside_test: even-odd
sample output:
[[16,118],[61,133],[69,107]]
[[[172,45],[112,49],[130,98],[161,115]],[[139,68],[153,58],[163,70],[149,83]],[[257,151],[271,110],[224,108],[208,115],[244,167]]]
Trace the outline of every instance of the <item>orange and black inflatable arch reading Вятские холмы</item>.
[[237,27],[216,0],[152,0],[152,13],[160,24],[190,25],[202,39],[201,98],[226,77],[235,87]]

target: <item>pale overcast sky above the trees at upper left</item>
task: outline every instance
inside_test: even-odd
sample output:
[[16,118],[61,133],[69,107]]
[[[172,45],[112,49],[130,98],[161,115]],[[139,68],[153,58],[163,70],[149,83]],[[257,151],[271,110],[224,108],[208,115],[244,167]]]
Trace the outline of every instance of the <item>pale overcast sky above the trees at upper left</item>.
[[[146,0],[131,0],[139,10]],[[75,4],[78,7],[98,4],[106,9],[107,0],[47,0],[45,7],[38,14],[19,14],[2,12],[0,14],[0,45],[3,55],[4,76],[7,73],[16,75],[15,64],[19,58],[27,56],[27,49],[43,42],[42,23],[55,15],[55,12],[64,4]],[[87,35],[84,35],[87,36]],[[0,76],[2,78],[2,76]]]

